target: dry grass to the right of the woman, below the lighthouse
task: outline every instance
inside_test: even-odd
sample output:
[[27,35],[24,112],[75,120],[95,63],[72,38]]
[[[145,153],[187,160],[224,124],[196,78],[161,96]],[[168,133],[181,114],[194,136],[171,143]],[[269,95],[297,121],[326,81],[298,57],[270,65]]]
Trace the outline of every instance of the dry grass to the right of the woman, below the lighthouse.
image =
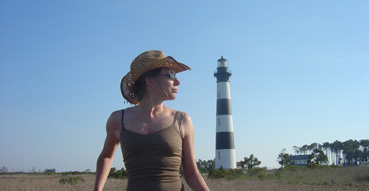
[[206,182],[213,191],[369,191],[369,168],[275,170],[266,171],[263,176]]

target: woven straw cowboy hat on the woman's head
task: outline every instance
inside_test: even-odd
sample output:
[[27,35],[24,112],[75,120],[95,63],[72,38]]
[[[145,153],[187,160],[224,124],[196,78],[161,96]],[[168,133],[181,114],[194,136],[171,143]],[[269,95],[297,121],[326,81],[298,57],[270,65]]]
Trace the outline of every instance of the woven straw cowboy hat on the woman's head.
[[156,68],[170,68],[176,73],[191,70],[190,67],[176,61],[173,57],[166,57],[161,50],[141,53],[132,61],[131,71],[122,78],[120,83],[120,91],[129,103],[138,104],[140,102],[133,93],[133,87],[143,74]]

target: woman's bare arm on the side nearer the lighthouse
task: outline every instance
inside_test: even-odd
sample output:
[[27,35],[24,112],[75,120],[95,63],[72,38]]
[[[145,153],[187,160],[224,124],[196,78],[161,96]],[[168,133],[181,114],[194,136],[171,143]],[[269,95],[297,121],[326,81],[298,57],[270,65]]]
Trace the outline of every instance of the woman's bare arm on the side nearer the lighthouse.
[[182,123],[183,133],[183,171],[187,184],[195,191],[208,191],[203,177],[197,169],[194,153],[194,130],[189,115],[185,115]]

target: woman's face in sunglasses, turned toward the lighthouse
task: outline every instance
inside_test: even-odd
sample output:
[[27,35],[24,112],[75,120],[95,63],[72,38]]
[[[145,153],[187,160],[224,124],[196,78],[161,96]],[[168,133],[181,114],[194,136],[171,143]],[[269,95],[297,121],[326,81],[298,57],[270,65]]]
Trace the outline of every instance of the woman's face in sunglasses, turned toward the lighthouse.
[[178,86],[181,84],[176,78],[176,73],[169,68],[163,68],[157,78],[157,88],[164,100],[174,100],[178,93]]

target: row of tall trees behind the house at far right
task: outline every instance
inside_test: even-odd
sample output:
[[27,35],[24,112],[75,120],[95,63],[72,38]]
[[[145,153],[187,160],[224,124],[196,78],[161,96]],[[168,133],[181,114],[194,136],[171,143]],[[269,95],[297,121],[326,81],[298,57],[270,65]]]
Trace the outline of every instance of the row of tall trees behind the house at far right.
[[312,154],[315,149],[323,150],[327,155],[328,163],[332,165],[359,165],[368,162],[369,159],[369,139],[312,143],[301,147],[293,146],[293,149],[295,154],[304,155]]

